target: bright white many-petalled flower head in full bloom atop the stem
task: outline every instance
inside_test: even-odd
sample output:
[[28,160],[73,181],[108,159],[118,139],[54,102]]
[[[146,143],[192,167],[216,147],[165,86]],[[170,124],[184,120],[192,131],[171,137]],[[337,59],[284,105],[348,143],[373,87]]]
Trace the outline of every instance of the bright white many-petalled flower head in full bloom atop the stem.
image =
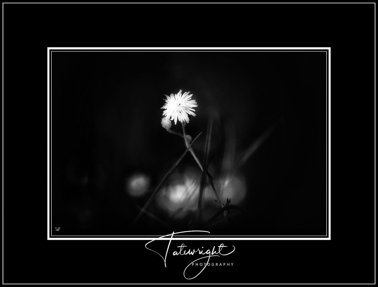
[[167,96],[167,99],[164,100],[166,103],[164,106],[161,107],[161,109],[165,109],[163,112],[163,116],[165,115],[170,120],[174,120],[175,124],[177,124],[177,119],[181,123],[189,123],[189,117],[188,115],[192,115],[195,117],[195,109],[194,107],[198,107],[197,102],[195,100],[191,100],[192,95],[190,92],[184,92],[184,94],[181,95],[182,90],[180,90],[177,94],[170,94],[170,96]]

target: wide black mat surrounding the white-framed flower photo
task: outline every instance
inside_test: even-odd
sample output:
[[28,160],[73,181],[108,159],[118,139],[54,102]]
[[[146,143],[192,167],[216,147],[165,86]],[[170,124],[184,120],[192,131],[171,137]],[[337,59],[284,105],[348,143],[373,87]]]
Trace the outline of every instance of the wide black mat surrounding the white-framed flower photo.
[[191,282],[375,282],[374,4],[3,8],[4,283],[187,283],[184,262],[163,267],[144,241],[45,237],[46,48],[181,43],[332,48],[331,240],[230,240],[239,266]]

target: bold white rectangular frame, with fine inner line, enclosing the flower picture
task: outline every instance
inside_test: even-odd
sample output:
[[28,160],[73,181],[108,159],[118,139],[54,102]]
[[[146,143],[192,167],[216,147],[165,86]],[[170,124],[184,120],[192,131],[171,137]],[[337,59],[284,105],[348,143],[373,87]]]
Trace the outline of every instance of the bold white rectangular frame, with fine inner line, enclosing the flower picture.
[[[105,50],[105,51],[85,51],[85,50]],[[331,124],[330,124],[330,104],[331,104],[331,89],[330,89],[330,82],[331,82],[331,77],[330,77],[330,68],[331,68],[331,48],[330,47],[316,47],[316,48],[303,48],[303,47],[297,47],[297,48],[278,48],[278,47],[195,47],[195,48],[188,48],[188,47],[128,47],[128,48],[121,48],[121,47],[116,47],[116,48],[106,48],[106,47],[48,47],[47,48],[47,115],[48,115],[48,135],[47,135],[47,152],[48,152],[48,219],[47,219],[47,224],[48,224],[48,229],[47,229],[47,239],[48,240],[152,240],[156,239],[157,237],[160,237],[162,235],[52,235],[50,234],[49,227],[51,227],[51,231],[53,230],[52,223],[50,223],[50,200],[52,203],[52,192],[51,192],[51,198],[50,198],[50,156],[51,156],[51,150],[50,150],[50,64],[52,63],[52,59],[50,58],[50,53],[52,55],[53,52],[129,52],[127,50],[146,50],[146,51],[130,51],[130,52],[151,52],[150,50],[158,50],[155,52],[160,52],[159,50],[164,50],[162,52],[166,52],[166,50],[169,50],[168,52],[186,52],[186,51],[195,51],[195,50],[234,50],[234,51],[219,51],[219,52],[326,52],[328,53],[328,66],[327,66],[327,82],[328,82],[328,111],[327,111],[327,116],[328,116],[328,135],[327,135],[327,145],[328,145],[328,159],[327,159],[327,177],[328,177],[328,206],[327,206],[327,213],[328,213],[328,218],[326,218],[326,221],[328,221],[328,228],[326,228],[326,235],[323,236],[328,236],[328,237],[311,237],[311,236],[322,236],[322,235],[234,235],[234,236],[243,236],[243,238],[235,238],[235,237],[211,237],[211,235],[202,235],[206,237],[196,237],[196,238],[190,238],[190,237],[180,237],[177,235],[177,238],[168,238],[168,239],[173,239],[173,240],[330,240],[331,239],[331,220],[330,220],[330,214],[331,214],[331,183],[330,183],[330,134],[331,134]],[[273,51],[259,51],[259,50],[273,50]],[[65,50],[65,51],[50,51],[50,50]],[[69,51],[67,51],[69,50]],[[113,50],[126,50],[126,51],[113,51]],[[236,50],[236,51],[235,51]],[[237,51],[237,50],[249,50],[249,51]],[[255,51],[253,51],[255,50]],[[295,50],[295,51],[287,51],[287,50]],[[304,50],[304,51],[300,51]],[[328,50],[328,51],[319,51],[319,50]],[[204,52],[204,51],[201,51]],[[207,51],[207,52],[218,52],[218,51]],[[52,66],[52,64],[51,64]],[[52,78],[52,71],[51,71],[51,78]],[[327,85],[326,85],[327,87]],[[51,83],[51,94],[52,94],[52,83]],[[51,97],[52,101],[52,97]],[[51,109],[52,109],[52,104],[51,104]],[[51,113],[52,114],[52,113]],[[51,142],[51,147],[52,147],[52,142]],[[52,148],[51,148],[52,149]],[[52,167],[51,167],[51,173],[52,173]],[[52,204],[51,204],[52,205]],[[51,207],[52,210],[52,207]],[[52,236],[52,237],[50,237]],[[56,237],[58,236],[58,237]],[[89,237],[85,237],[89,236]],[[95,237],[95,236],[101,236],[101,237]],[[116,236],[116,237],[114,237]],[[132,236],[132,237],[122,237],[122,236]],[[133,237],[136,236],[136,237]],[[141,237],[137,237],[141,236]],[[146,236],[146,237],[143,237]],[[147,237],[147,236],[154,236],[154,237]],[[194,236],[194,235],[193,235]],[[218,236],[228,236],[228,235],[218,235]],[[254,237],[248,237],[248,236],[254,236]],[[260,237],[256,237],[260,236]],[[280,236],[280,237],[274,237],[274,236]],[[296,237],[291,237],[291,236],[296,236]],[[301,237],[298,237],[301,236]],[[303,236],[303,237],[302,237]],[[74,238],[72,238],[74,237]],[[120,237],[120,238],[117,238]],[[290,238],[288,238],[290,237]],[[160,238],[165,240],[165,238]]]

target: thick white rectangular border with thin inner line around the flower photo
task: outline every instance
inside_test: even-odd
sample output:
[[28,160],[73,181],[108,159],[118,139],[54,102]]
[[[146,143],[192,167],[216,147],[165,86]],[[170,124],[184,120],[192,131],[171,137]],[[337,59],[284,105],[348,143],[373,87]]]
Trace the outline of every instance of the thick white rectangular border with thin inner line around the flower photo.
[[[287,238],[288,236],[293,235],[254,235],[254,236],[263,236],[263,237],[248,237],[251,235],[235,235],[235,236],[245,236],[243,238],[233,238],[233,237],[200,237],[200,238],[191,238],[191,237],[174,237],[174,238],[159,238],[159,240],[331,240],[331,48],[330,47],[316,47],[316,48],[301,48],[301,47],[294,47],[294,48],[280,48],[280,47],[196,47],[196,48],[188,48],[188,47],[127,47],[127,48],[107,48],[107,47],[48,47],[47,48],[47,239],[48,240],[153,240],[157,239],[157,237],[160,237],[161,235],[155,235],[155,237],[131,237],[131,238],[116,238],[107,236],[104,238],[93,238],[93,237],[77,237],[77,236],[85,236],[85,235],[64,235],[64,238],[56,238],[51,237],[50,238],[50,50],[96,50],[96,49],[102,49],[102,50],[145,50],[145,51],[133,51],[133,52],[149,52],[150,50],[169,50],[170,52],[173,52],[174,50],[177,51],[193,51],[193,50],[252,50],[252,51],[236,51],[236,52],[253,52],[253,50],[261,50],[261,49],[270,49],[274,51],[255,51],[255,52],[285,52],[285,50],[303,50],[303,51],[313,51],[313,52],[325,52],[325,51],[319,51],[319,50],[328,50],[328,66],[327,66],[327,74],[328,74],[328,162],[327,162],[327,168],[328,168],[328,229],[327,229],[327,235],[328,237],[321,237],[321,238],[314,238],[311,237],[312,235],[302,235],[306,237],[294,237],[294,238]],[[59,51],[54,51],[59,52]],[[81,51],[81,52],[108,52],[108,51]],[[113,51],[113,52],[127,52],[127,51]],[[206,51],[204,51],[206,52]],[[216,52],[216,51],[208,51],[208,52]],[[226,52],[226,51],[225,51]],[[230,51],[235,52],[235,51]],[[290,52],[301,52],[301,51],[290,51]],[[51,52],[53,53],[53,52]],[[325,52],[327,53],[327,52]],[[327,60],[326,60],[327,62]],[[52,78],[52,75],[51,75]],[[51,97],[52,98],[52,97]],[[51,143],[52,147],[52,143]],[[52,149],[52,148],[51,148]],[[51,168],[52,172],[52,168]],[[52,193],[51,193],[52,198]],[[52,209],[52,207],[51,207]],[[52,224],[52,223],[51,223]],[[51,230],[53,230],[53,227],[51,226]],[[325,236],[327,236],[325,235]],[[53,236],[53,235],[51,235]],[[67,236],[67,237],[66,237]],[[69,237],[72,236],[72,237]],[[96,236],[96,235],[91,235]],[[102,235],[98,235],[102,236]],[[113,235],[113,236],[125,236],[125,235]],[[143,235],[130,235],[130,236],[143,236]],[[147,235],[144,235],[147,236]],[[211,235],[208,235],[211,236]],[[222,235],[221,235],[222,236]],[[228,236],[228,235],[225,235]],[[266,236],[266,237],[265,237]],[[273,236],[282,236],[282,238],[272,238]],[[297,235],[301,236],[301,235]]]

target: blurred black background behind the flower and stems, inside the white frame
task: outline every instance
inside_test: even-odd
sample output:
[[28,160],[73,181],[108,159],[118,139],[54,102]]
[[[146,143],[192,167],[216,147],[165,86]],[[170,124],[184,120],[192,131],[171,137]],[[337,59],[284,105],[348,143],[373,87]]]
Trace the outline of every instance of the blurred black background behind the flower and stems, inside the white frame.
[[[232,223],[223,219],[206,230],[326,235],[327,52],[53,51],[51,63],[51,220],[60,227],[53,235],[162,236],[169,233],[160,230],[166,224],[194,227],[197,209],[187,210],[186,202],[176,211],[179,206],[171,203],[169,214],[164,209],[169,203],[157,200],[148,210],[163,222],[144,215],[131,227],[139,213],[135,206],[144,205],[184,151],[181,138],[160,126],[164,94],[180,88],[192,91],[198,103],[186,127],[193,137],[203,132],[196,154],[202,161],[207,121],[213,118],[212,176],[216,181],[230,178],[227,169],[236,171],[242,183],[225,189],[233,189],[227,193],[232,203],[252,214],[233,210]],[[180,131],[181,124],[172,129]],[[256,142],[259,149],[236,169]],[[231,158],[224,162],[225,157]],[[188,173],[193,180],[201,176],[189,153],[171,178],[180,182]],[[140,174],[150,187],[131,196],[127,182]],[[215,186],[222,192],[221,183]],[[199,184],[188,189],[197,207]],[[225,202],[226,195],[220,196]],[[219,209],[209,199],[203,207],[205,219]],[[224,228],[232,230],[213,230]]]

